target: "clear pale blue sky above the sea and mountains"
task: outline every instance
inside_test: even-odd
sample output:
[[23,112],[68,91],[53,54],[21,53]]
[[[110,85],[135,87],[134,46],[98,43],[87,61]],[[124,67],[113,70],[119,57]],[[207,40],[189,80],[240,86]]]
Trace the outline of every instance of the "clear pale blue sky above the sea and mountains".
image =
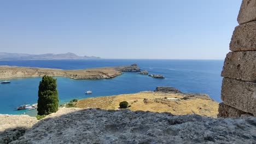
[[0,52],[224,59],[242,0],[0,0]]

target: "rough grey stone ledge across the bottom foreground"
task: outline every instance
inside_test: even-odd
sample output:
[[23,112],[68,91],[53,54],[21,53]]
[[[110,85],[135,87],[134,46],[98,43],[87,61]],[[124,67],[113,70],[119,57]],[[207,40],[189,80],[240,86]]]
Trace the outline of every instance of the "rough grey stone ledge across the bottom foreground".
[[80,110],[44,118],[11,143],[255,143],[256,118]]

